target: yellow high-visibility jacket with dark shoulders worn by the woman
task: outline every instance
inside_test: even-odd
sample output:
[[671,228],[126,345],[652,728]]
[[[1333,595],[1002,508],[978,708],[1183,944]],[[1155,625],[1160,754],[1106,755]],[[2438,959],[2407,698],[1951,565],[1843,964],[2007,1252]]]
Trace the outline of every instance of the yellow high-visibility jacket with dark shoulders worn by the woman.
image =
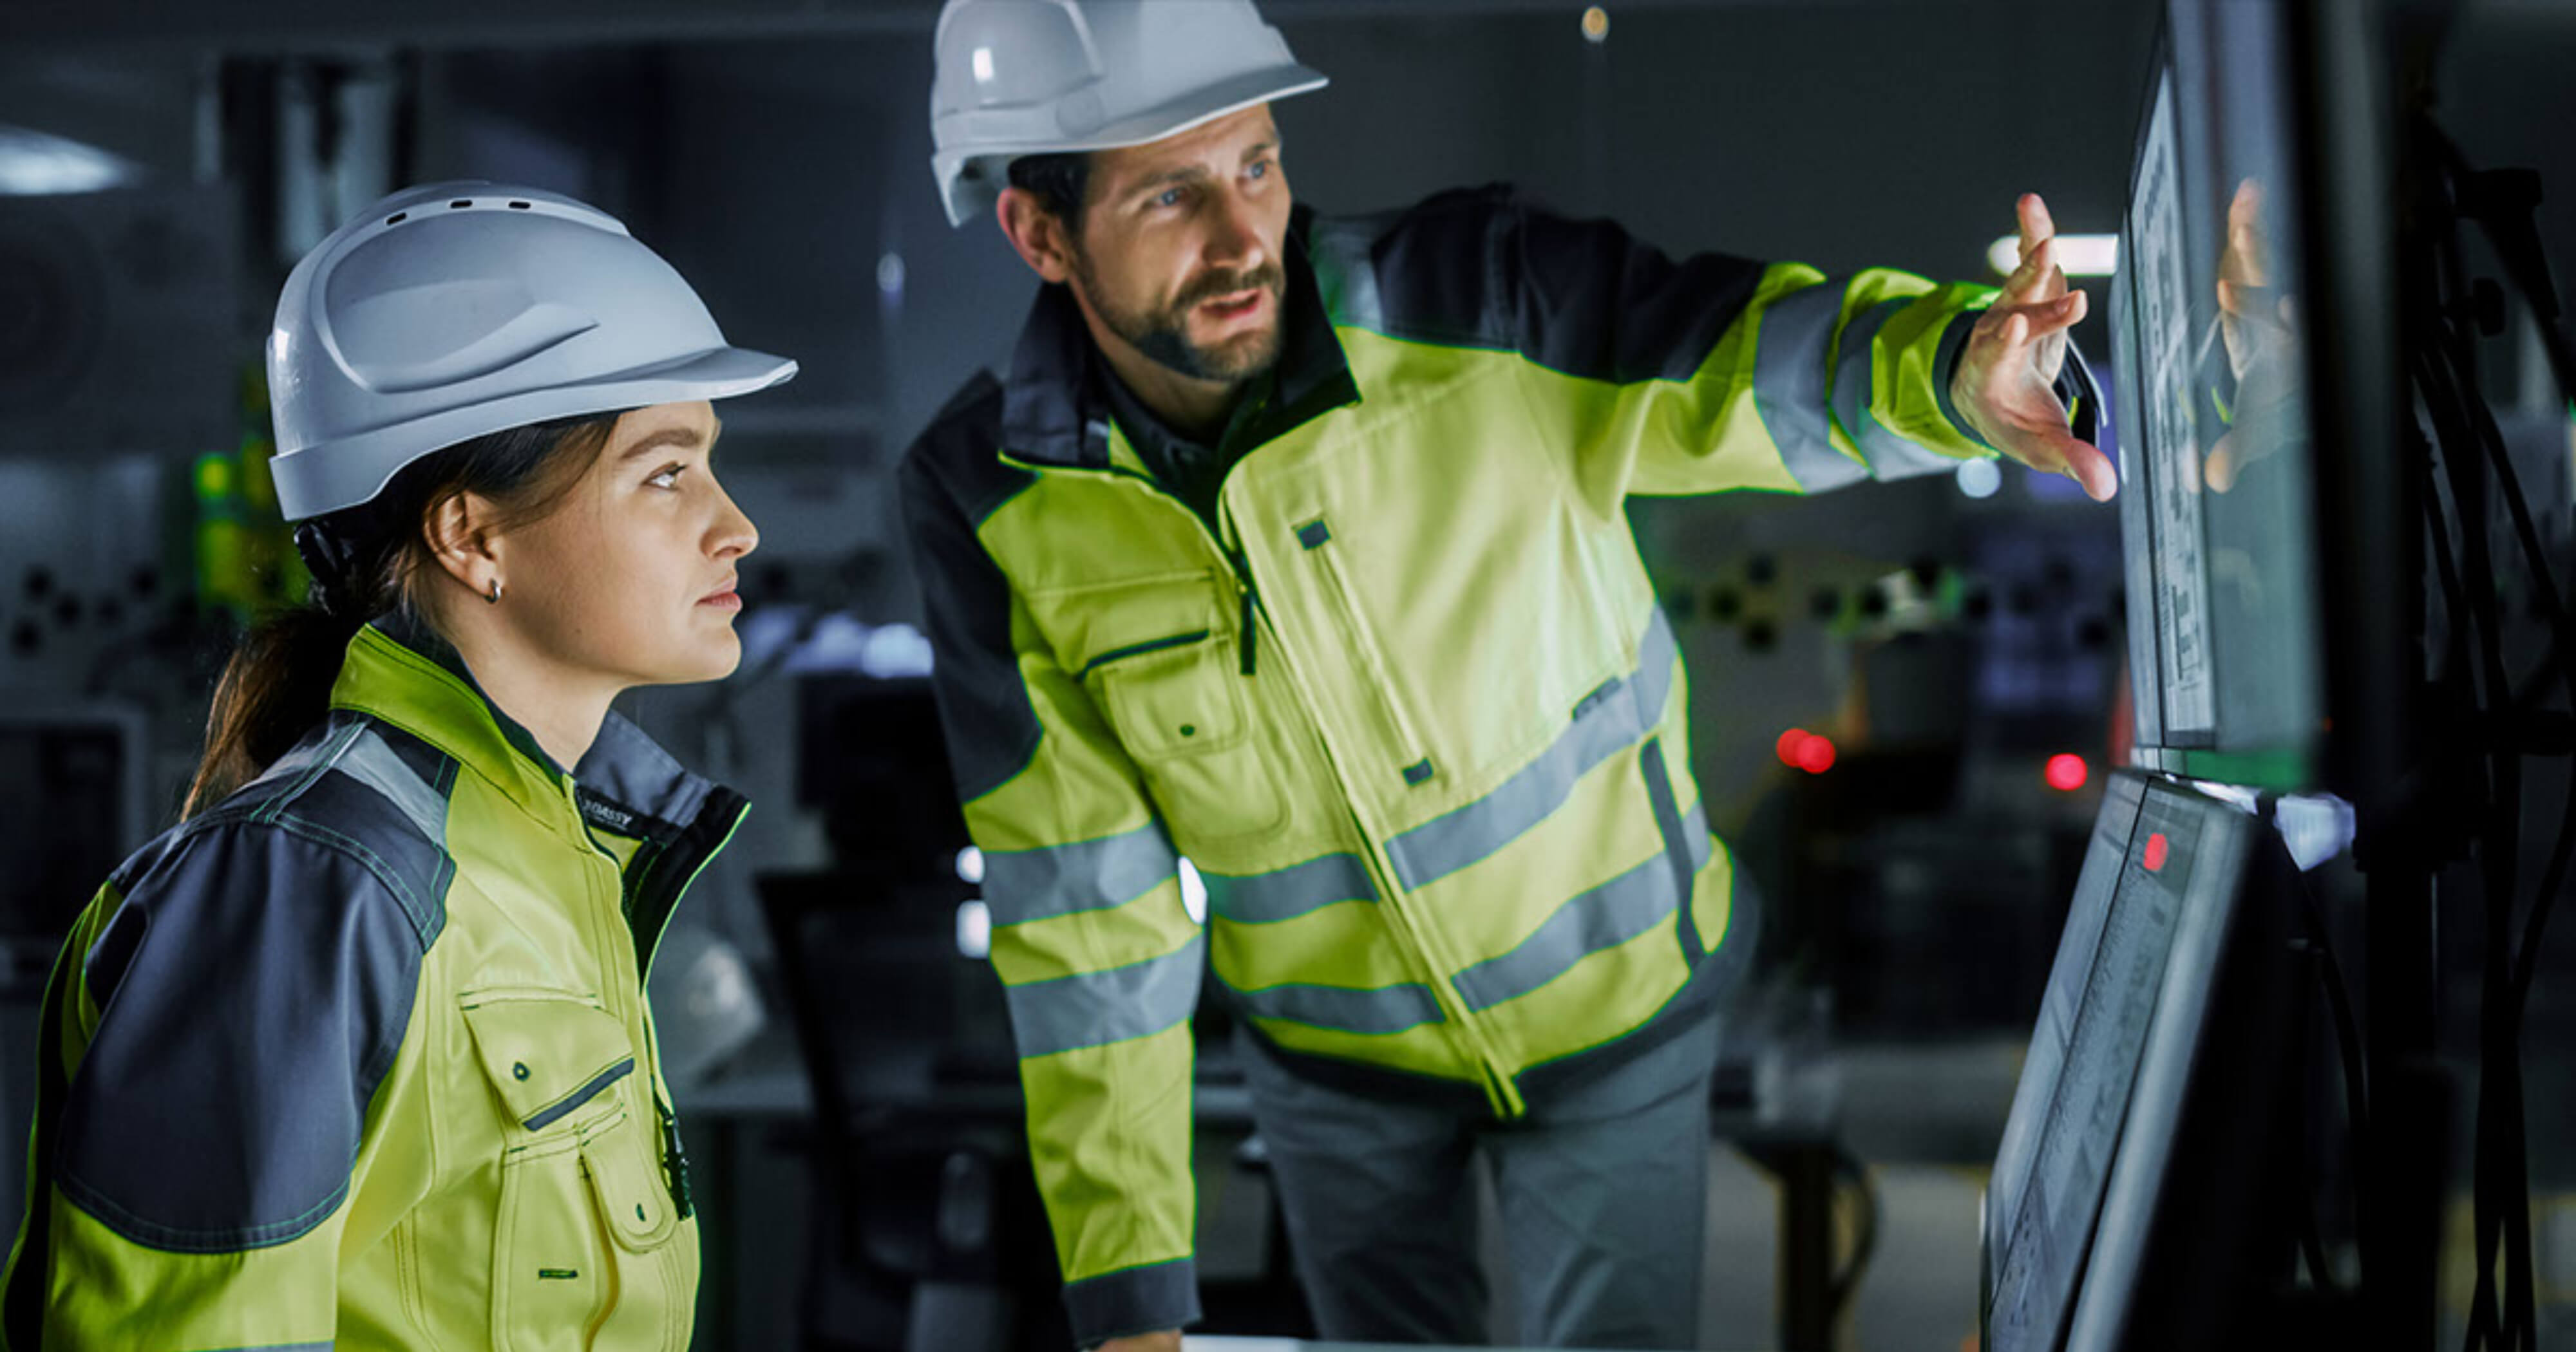
[[742,811],[616,716],[564,775],[363,628],[330,718],[80,914],[5,1344],[685,1349],[644,971]]

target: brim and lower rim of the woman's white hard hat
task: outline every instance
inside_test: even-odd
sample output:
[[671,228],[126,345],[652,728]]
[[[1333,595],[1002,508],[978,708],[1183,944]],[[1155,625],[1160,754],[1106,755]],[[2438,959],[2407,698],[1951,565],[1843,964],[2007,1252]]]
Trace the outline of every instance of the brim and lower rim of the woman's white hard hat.
[[394,427],[376,427],[337,440],[299,446],[270,461],[278,510],[286,520],[307,520],[355,507],[384,492],[402,466],[479,435],[554,422],[613,409],[683,404],[693,399],[732,399],[786,384],[796,376],[791,358],[744,348],[708,348],[592,381],[531,389],[505,399],[446,409]]

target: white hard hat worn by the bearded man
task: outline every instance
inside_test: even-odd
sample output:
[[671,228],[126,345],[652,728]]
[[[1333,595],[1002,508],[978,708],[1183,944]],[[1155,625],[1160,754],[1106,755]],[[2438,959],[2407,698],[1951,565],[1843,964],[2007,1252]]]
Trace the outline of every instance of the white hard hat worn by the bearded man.
[[1159,142],[1324,88],[1252,0],[948,0],[933,46],[948,224],[989,209],[1023,155]]

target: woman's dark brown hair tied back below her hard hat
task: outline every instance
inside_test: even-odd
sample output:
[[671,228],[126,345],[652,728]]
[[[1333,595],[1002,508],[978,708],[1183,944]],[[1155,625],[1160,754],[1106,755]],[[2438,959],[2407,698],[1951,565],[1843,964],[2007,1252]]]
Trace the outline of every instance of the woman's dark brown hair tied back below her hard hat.
[[322,721],[348,641],[366,621],[397,608],[422,613],[417,585],[435,567],[428,523],[438,507],[471,492],[500,505],[505,530],[538,520],[582,482],[616,422],[616,412],[600,412],[464,440],[402,466],[376,497],[296,525],[312,592],[234,644],[214,685],[185,816],[255,780]]

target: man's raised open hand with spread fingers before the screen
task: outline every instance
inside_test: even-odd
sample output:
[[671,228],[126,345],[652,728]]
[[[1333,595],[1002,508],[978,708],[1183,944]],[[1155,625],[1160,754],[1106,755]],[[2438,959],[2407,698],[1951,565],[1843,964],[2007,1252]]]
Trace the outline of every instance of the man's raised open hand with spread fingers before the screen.
[[2056,391],[2066,330],[2084,319],[2084,294],[2069,291],[2058,270],[2048,203],[2022,193],[2014,206],[2022,265],[2004,278],[1994,309],[1976,317],[1950,379],[1950,402],[1996,451],[2043,474],[2066,474],[2102,502],[2120,489],[2120,474],[2110,456],[2066,430],[2066,404]]

